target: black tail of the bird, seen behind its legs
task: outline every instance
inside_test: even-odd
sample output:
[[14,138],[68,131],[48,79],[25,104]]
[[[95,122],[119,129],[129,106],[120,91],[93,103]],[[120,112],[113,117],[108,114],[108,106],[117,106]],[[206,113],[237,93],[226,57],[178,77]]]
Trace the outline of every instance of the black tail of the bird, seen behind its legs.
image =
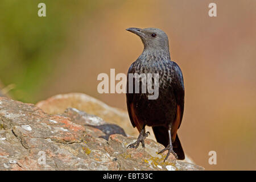
[[[169,144],[169,136],[168,136],[167,128],[163,126],[155,126],[155,127],[152,127],[152,129],[154,131],[156,141],[163,144],[164,147],[167,147]],[[181,147],[181,143],[177,135],[176,135],[175,141],[172,143],[172,147],[174,147],[174,151],[177,154],[178,159],[184,160],[185,159],[184,151],[183,151],[183,148]]]

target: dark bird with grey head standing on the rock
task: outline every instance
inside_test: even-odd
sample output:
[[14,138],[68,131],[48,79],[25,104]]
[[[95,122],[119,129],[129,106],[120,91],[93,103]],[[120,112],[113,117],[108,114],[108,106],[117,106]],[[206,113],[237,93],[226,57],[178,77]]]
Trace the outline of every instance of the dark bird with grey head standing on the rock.
[[[144,139],[150,135],[145,131],[145,126],[152,127],[156,141],[165,147],[159,151],[162,154],[168,150],[164,162],[170,154],[176,159],[185,159],[177,129],[181,125],[184,112],[184,80],[183,73],[177,63],[171,60],[169,41],[166,33],[159,28],[127,28],[127,31],[141,38],[144,45],[143,52],[127,73],[126,104],[129,118],[133,127],[137,127],[139,137],[136,142],[127,148],[138,148]],[[129,75],[158,74],[158,97],[148,99],[152,93],[135,92],[135,77],[129,80]],[[157,81],[152,77],[152,81]],[[142,79],[139,86],[142,90]],[[131,86],[131,90],[129,90]],[[136,86],[136,85],[135,85]],[[131,92],[132,91],[132,92]]]

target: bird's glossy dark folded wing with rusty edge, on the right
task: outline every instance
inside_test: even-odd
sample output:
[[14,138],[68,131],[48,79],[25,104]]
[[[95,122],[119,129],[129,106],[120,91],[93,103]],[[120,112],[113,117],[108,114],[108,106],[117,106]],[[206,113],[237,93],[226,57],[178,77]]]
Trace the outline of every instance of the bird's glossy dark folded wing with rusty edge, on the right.
[[174,90],[174,95],[176,98],[176,118],[174,123],[172,124],[172,141],[175,141],[177,129],[179,129],[181,125],[181,121],[183,118],[183,111],[184,111],[184,82],[183,82],[183,75],[181,72],[180,67],[175,63],[172,62],[172,80],[171,80],[171,87]]

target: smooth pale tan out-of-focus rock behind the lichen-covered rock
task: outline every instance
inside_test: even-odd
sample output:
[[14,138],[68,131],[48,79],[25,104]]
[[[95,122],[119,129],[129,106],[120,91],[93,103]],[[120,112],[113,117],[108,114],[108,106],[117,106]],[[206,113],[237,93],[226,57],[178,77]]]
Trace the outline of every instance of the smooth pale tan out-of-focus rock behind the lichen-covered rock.
[[[138,136],[138,130],[133,128],[130,123],[129,115],[127,111],[110,107],[104,102],[97,100],[82,93],[69,93],[59,94],[48,98],[45,101],[40,101],[36,106],[43,109],[48,114],[62,114],[68,107],[73,107],[85,113],[97,115],[104,121],[116,124],[125,130],[125,133],[129,136]],[[151,139],[154,139],[154,133],[150,128]]]

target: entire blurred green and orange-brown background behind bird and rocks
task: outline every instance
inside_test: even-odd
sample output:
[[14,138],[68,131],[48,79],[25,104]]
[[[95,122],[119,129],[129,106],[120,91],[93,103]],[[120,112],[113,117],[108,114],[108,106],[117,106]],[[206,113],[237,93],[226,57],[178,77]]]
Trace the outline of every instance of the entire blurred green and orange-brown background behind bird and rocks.
[[[46,3],[46,17],[38,4]],[[217,17],[208,5],[217,4]],[[35,104],[82,92],[126,110],[125,94],[99,94],[99,73],[127,73],[143,50],[128,27],[158,27],[185,83],[178,131],[205,169],[256,169],[256,1],[0,1],[0,88]],[[208,163],[217,152],[217,165]]]

